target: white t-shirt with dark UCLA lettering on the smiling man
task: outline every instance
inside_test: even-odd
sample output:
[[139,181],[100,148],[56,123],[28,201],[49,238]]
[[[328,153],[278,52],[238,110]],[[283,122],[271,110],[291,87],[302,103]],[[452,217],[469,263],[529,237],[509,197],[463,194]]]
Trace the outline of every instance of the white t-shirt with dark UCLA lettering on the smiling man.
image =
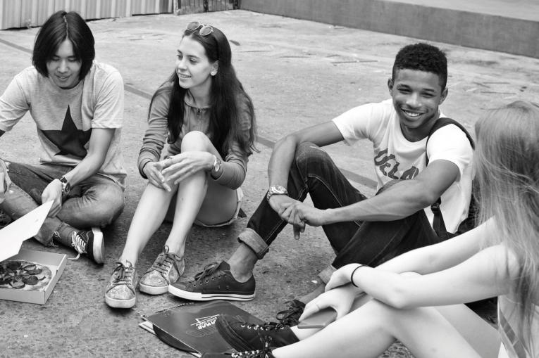
[[[440,114],[440,117],[445,115]],[[428,151],[429,164],[435,160],[449,160],[459,168],[459,177],[442,193],[440,206],[447,231],[454,233],[468,216],[471,198],[473,149],[466,134],[459,127],[447,125],[427,139],[411,142],[404,138],[399,117],[391,99],[352,108],[335,117],[333,122],[345,141],[353,145],[360,139],[373,143],[374,167],[378,189],[392,179],[413,179],[425,168]],[[430,224],[433,212],[425,208]]]

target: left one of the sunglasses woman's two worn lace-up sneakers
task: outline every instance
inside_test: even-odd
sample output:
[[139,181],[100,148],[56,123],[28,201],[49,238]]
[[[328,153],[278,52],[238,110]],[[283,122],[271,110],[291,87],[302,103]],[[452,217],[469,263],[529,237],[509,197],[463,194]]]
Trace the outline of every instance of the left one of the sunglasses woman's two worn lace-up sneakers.
[[137,271],[128,261],[127,265],[116,262],[118,266],[114,269],[109,284],[105,290],[105,302],[109,307],[131,308],[135,305],[137,295]]

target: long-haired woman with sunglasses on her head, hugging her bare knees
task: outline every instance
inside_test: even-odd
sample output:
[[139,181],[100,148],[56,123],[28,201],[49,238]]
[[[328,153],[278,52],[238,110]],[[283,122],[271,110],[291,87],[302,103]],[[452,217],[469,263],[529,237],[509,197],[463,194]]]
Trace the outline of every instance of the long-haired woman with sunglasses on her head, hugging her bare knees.
[[171,218],[171,232],[140,279],[140,291],[151,295],[166,293],[182,276],[193,223],[229,224],[240,210],[240,186],[255,150],[254,109],[235,75],[230,44],[221,30],[187,25],[175,70],[151,98],[148,122],[138,167],[149,183],[106,288],[111,307],[135,305],[137,259],[163,219]]

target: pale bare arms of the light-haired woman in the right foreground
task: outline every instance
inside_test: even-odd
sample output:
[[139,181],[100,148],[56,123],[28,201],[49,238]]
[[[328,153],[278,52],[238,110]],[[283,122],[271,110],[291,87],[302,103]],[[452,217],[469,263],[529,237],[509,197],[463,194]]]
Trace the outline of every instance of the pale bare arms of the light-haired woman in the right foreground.
[[[304,317],[313,314],[314,312],[318,311],[318,309],[328,306],[335,307],[337,312],[340,313],[340,317],[342,317],[342,315],[349,311],[354,298],[357,297],[357,295],[365,292],[373,295],[379,300],[383,300],[384,302],[395,306],[406,307],[412,303],[418,305],[419,301],[417,298],[414,302],[411,300],[407,301],[408,298],[405,300],[404,297],[408,297],[407,294],[410,292],[421,292],[421,290],[416,289],[417,286],[421,285],[426,285],[421,288],[423,293],[426,295],[426,298],[430,299],[435,297],[433,290],[438,290],[439,288],[428,286],[429,282],[435,285],[443,286],[442,288],[444,290],[449,289],[452,291],[458,291],[466,289],[470,292],[469,297],[458,297],[457,302],[465,302],[469,300],[471,296],[483,296],[483,298],[485,298],[499,294],[501,292],[498,290],[499,287],[496,288],[495,292],[488,291],[492,290],[492,286],[490,284],[488,284],[486,287],[480,284],[480,286],[478,286],[482,287],[480,290],[469,290],[469,286],[476,284],[469,282],[467,283],[469,285],[468,288],[461,287],[457,289],[452,288],[452,286],[447,286],[448,284],[453,283],[450,283],[450,281],[444,281],[446,280],[445,277],[429,275],[433,273],[445,272],[445,270],[458,267],[460,264],[466,262],[466,260],[471,259],[473,255],[476,255],[478,252],[480,252],[481,248],[483,248],[485,239],[490,235],[490,230],[494,229],[493,226],[493,219],[490,219],[488,222],[481,224],[475,229],[451,238],[450,240],[405,252],[392,260],[380,264],[378,267],[376,267],[376,269],[360,267],[354,274],[354,283],[356,283],[359,287],[355,287],[350,284],[352,271],[354,271],[354,269],[356,269],[359,265],[348,264],[345,267],[341,267],[333,273],[333,276],[331,276],[331,279],[326,286],[326,293],[323,293],[314,300],[316,301],[316,305],[308,304],[306,306]],[[490,260],[490,258],[488,260]],[[476,263],[472,264],[471,266],[476,266],[478,261],[475,262]],[[481,262],[484,261],[481,260]],[[468,264],[469,263],[466,264],[464,270],[468,269]],[[360,279],[360,271],[362,271],[361,274],[366,277],[364,278],[366,282],[358,281]],[[424,276],[409,275],[407,274],[409,272],[415,272]],[[447,274],[447,272],[445,272],[445,274]],[[450,272],[450,276],[452,274],[454,274],[454,272]],[[461,268],[459,267],[459,274],[466,274],[466,271],[461,271]],[[477,274],[479,274],[479,272]],[[488,277],[484,276],[484,274],[483,276],[478,277],[480,278],[480,281],[489,281]],[[425,278],[428,279],[428,282],[421,281]],[[412,282],[413,285],[407,286],[408,282]],[[459,283],[459,279],[457,279],[457,283]],[[443,299],[447,298],[447,300],[455,300],[455,298],[452,297],[453,293],[454,292],[452,292],[450,295],[442,293],[441,295]],[[433,302],[429,303],[432,304]],[[426,302],[421,302],[421,304],[425,305]]]

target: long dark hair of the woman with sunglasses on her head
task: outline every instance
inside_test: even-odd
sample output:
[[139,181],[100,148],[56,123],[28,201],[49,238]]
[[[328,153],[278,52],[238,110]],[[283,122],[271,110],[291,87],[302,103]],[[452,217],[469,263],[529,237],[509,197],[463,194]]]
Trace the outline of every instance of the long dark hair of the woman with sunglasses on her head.
[[[197,30],[185,30],[183,37],[190,37],[199,42],[206,51],[206,56],[210,62],[218,61],[218,72],[212,77],[210,89],[210,117],[209,117],[209,138],[223,158],[228,153],[229,145],[234,139],[240,143],[243,151],[251,154],[256,151],[254,140],[256,136],[254,108],[249,95],[244,91],[236,72],[232,65],[232,51],[225,34],[213,27],[213,32],[206,36],[201,36]],[[180,87],[178,74],[174,71],[171,77],[157,89],[151,98],[151,105],[161,91],[171,88],[170,104],[168,106],[168,142],[174,143],[183,124],[184,98],[187,89]],[[242,136],[240,131],[240,108],[239,102],[244,102],[251,117],[251,128],[249,138]],[[149,113],[148,113],[149,115]]]

